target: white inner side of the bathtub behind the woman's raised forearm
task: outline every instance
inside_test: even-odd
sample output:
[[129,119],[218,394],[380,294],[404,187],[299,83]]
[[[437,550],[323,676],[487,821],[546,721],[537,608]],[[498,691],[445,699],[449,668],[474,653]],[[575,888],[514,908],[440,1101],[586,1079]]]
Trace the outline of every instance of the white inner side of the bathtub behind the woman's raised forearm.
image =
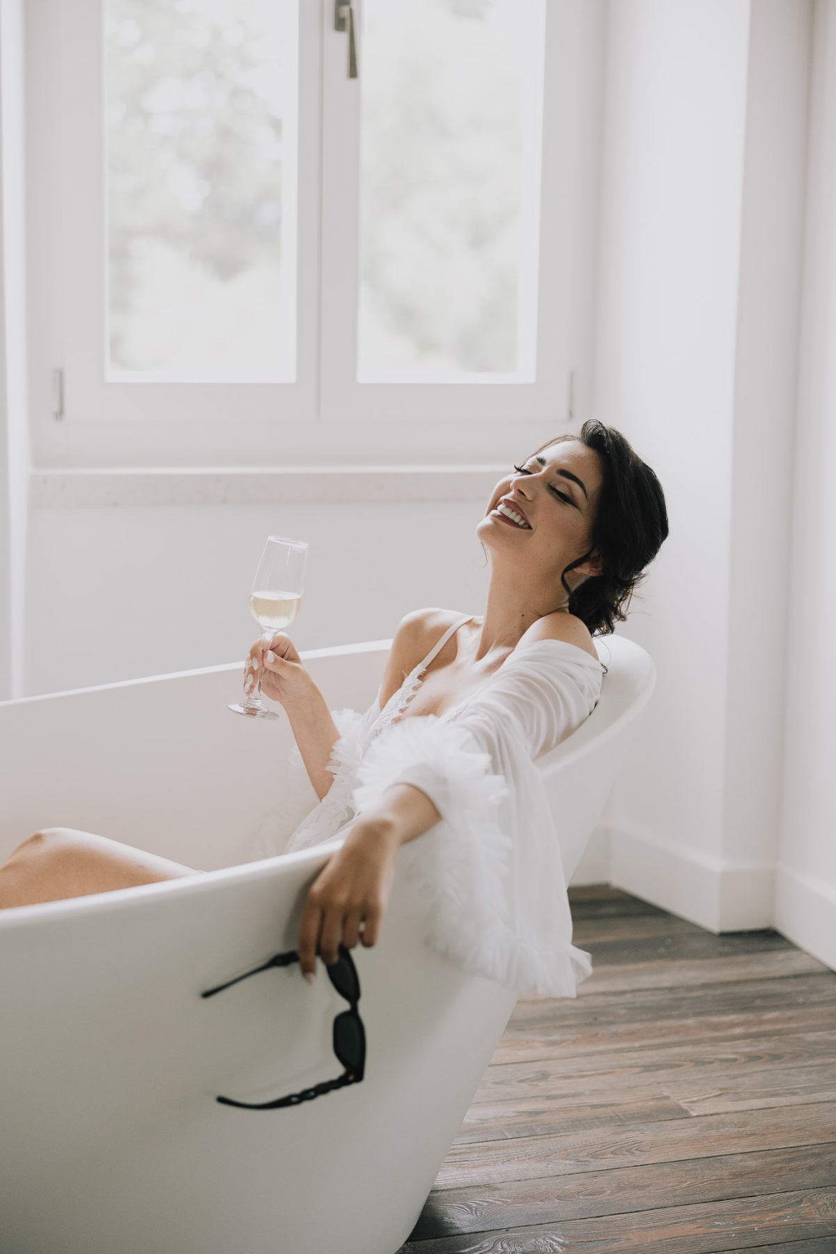
[[[306,656],[332,709],[365,710],[389,641]],[[79,828],[202,870],[252,858],[288,784],[292,736],[231,714],[243,665],[0,703],[0,858],[44,826]],[[316,798],[291,789],[301,818]],[[292,825],[292,816],[288,816]]]

